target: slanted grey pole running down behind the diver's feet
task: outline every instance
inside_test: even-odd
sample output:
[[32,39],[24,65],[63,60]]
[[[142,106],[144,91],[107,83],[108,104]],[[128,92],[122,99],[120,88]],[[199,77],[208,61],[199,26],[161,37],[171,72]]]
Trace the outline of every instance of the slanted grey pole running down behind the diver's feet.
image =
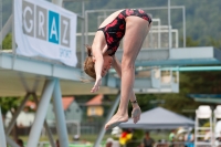
[[[109,111],[109,114],[108,114],[108,116],[107,116],[107,118],[106,118],[106,120],[105,120],[105,124],[110,119],[110,117],[114,115],[114,113],[115,113],[115,111],[116,111],[116,108],[117,108],[117,106],[118,106],[118,104],[119,104],[119,99],[120,99],[120,93],[118,94],[118,96],[116,97],[116,99],[115,99],[115,102],[114,102],[114,104],[113,104],[113,107],[112,107],[112,109]],[[105,135],[105,124],[102,126],[102,128],[101,128],[101,132],[99,132],[99,134],[98,134],[98,137],[97,137],[97,139],[96,139],[96,141],[95,141],[95,144],[94,144],[94,146],[93,147],[99,147],[99,144],[101,144],[101,141],[102,141],[102,138],[104,137],[104,135]]]

